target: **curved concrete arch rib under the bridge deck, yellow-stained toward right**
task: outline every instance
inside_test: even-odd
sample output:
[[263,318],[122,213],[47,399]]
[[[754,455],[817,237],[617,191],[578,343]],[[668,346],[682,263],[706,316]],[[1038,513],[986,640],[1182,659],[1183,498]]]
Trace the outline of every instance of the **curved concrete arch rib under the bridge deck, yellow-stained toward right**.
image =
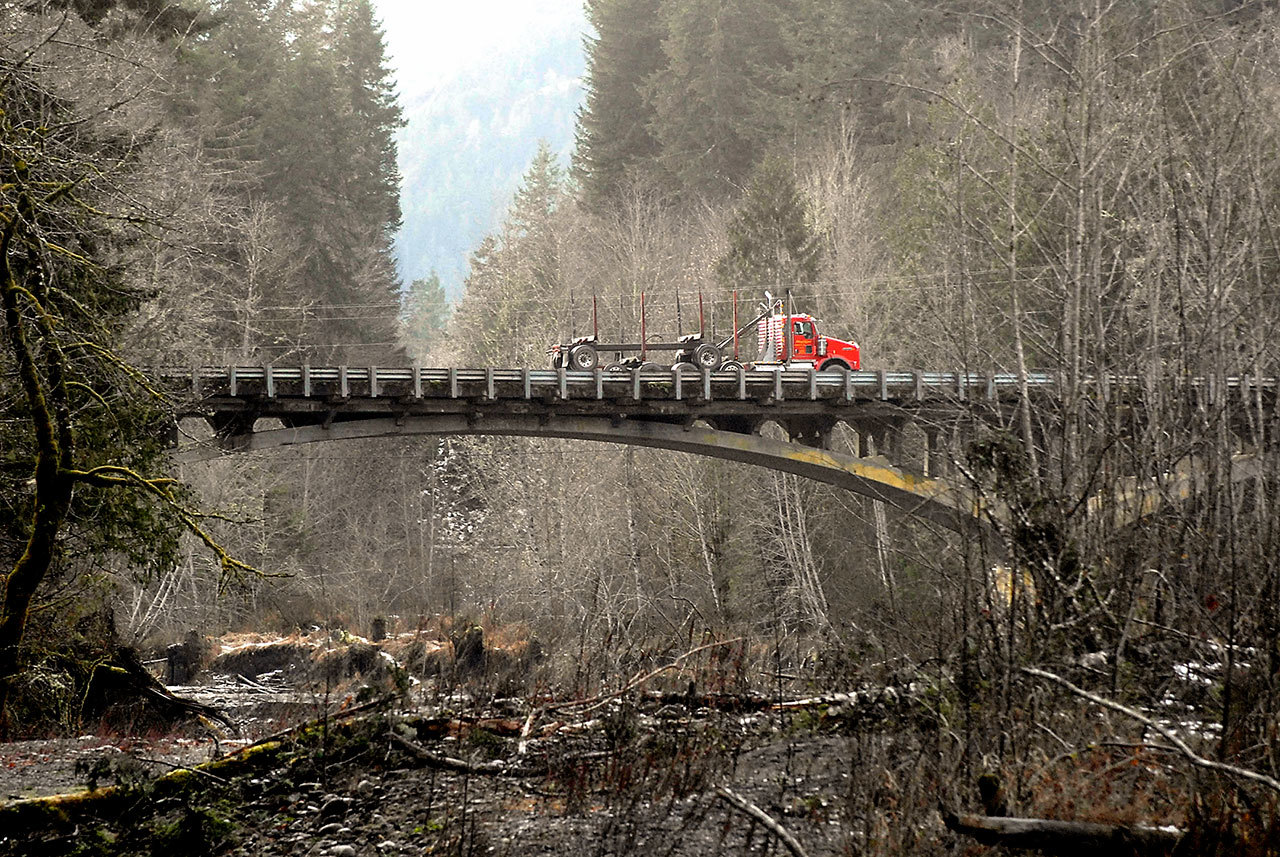
[[758,435],[716,431],[639,420],[607,417],[552,417],[503,414],[467,417],[444,413],[403,420],[355,420],[328,427],[308,425],[256,431],[233,436],[227,446],[187,446],[175,453],[178,462],[200,462],[238,452],[257,452],[297,444],[413,435],[495,435],[508,437],[566,437],[609,444],[707,455],[755,464],[826,482],[854,494],[888,503],[908,514],[925,518],[947,530],[966,532],[982,508],[974,499],[941,480],[899,469],[879,457],[858,458],[827,449],[814,449]]

